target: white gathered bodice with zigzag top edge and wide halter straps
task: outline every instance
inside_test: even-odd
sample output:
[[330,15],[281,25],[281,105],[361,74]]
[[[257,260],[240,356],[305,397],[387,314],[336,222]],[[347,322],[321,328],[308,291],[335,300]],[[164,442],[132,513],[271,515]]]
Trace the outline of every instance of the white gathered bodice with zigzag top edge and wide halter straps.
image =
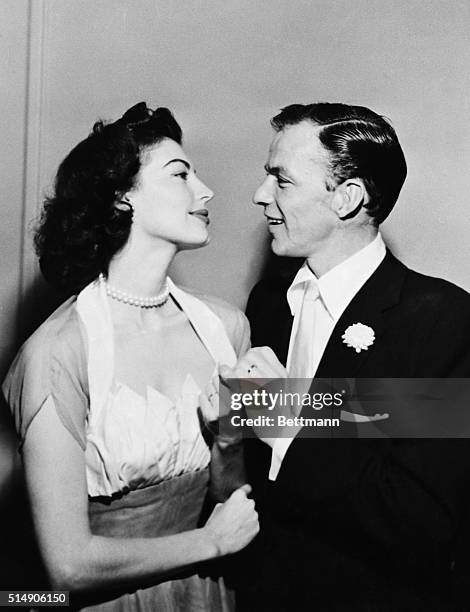
[[[170,293],[214,361],[233,365],[234,349],[215,313],[178,289]],[[89,412],[86,470],[91,497],[158,484],[207,467],[210,451],[198,415],[200,389],[189,373],[173,401],[147,386],[141,395],[116,380],[114,333],[104,284],[92,283],[77,299],[87,344]],[[209,382],[209,381],[208,381]]]

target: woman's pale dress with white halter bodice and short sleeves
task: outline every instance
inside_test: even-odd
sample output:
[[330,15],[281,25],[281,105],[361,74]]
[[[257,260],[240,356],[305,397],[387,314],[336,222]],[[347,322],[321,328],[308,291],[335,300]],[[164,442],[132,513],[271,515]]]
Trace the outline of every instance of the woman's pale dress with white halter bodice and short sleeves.
[[[219,317],[170,280],[169,286],[212,356],[214,375],[219,364],[233,366],[236,354]],[[198,417],[202,390],[190,374],[175,401],[151,387],[143,397],[116,380],[108,299],[104,283],[94,281],[53,313],[19,352],[3,390],[20,439],[41,408],[52,403],[85,451],[92,533],[159,537],[194,529],[209,484],[210,450]],[[188,568],[139,589],[116,585],[113,593],[73,596],[73,607],[103,612],[233,609],[233,596],[217,566],[213,571],[208,567]]]

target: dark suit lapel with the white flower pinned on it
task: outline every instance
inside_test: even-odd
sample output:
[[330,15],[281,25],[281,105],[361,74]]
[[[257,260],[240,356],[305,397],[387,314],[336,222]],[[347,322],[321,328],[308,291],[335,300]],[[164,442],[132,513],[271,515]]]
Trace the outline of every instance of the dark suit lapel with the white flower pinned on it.
[[341,315],[319,363],[316,378],[356,377],[365,360],[373,355],[373,345],[357,353],[344,344],[342,335],[354,323],[374,330],[374,344],[385,329],[383,313],[400,300],[406,267],[387,250],[384,260],[354,296]]

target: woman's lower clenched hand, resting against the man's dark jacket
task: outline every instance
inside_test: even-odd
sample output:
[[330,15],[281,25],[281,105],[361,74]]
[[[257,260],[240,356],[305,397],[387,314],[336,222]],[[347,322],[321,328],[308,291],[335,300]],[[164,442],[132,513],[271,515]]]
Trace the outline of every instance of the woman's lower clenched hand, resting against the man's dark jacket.
[[248,484],[234,491],[226,502],[216,505],[203,527],[220,555],[245,548],[259,531],[255,502],[247,497],[250,492]]

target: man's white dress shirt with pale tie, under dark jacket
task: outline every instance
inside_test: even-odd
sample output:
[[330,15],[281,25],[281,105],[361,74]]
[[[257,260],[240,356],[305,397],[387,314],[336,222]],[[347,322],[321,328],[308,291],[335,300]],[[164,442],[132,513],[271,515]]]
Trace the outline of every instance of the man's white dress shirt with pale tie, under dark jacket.
[[[370,244],[320,278],[315,276],[305,261],[287,290],[287,301],[294,317],[287,355],[287,371],[291,378],[315,376],[336,323],[359,289],[379,267],[385,251],[379,232]],[[308,317],[308,321],[304,317]],[[298,338],[299,330],[309,335],[307,342],[305,338]],[[299,346],[301,351],[305,351],[301,356]],[[274,442],[270,480],[276,480],[292,440],[277,438]]]

